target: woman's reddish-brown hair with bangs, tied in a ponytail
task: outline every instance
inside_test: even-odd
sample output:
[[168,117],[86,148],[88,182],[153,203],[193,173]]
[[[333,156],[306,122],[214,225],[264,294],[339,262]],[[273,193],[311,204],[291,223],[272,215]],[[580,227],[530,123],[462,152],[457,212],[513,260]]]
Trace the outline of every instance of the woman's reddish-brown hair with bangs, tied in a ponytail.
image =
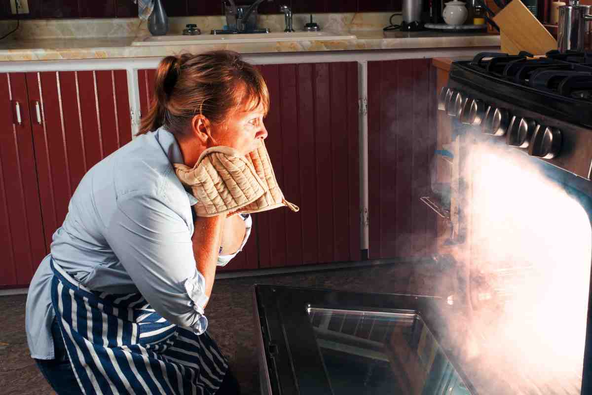
[[182,134],[195,115],[212,124],[223,124],[230,112],[243,105],[253,110],[260,104],[267,114],[269,94],[259,70],[232,51],[167,56],[155,75],[153,105],[141,119],[144,134],[165,126]]

